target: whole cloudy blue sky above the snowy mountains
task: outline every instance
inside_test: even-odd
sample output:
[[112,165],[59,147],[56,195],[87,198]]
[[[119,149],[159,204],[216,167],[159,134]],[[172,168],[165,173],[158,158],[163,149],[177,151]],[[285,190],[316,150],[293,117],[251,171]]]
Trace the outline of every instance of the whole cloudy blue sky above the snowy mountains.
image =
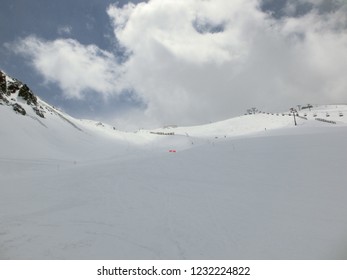
[[347,103],[346,0],[0,5],[0,68],[77,118],[131,130]]

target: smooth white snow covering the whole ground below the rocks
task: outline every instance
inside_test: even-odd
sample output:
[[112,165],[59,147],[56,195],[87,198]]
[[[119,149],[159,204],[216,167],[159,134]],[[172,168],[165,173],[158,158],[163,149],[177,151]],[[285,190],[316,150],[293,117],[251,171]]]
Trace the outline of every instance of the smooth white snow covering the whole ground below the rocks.
[[0,259],[347,259],[346,106],[133,133],[28,112],[0,105]]

